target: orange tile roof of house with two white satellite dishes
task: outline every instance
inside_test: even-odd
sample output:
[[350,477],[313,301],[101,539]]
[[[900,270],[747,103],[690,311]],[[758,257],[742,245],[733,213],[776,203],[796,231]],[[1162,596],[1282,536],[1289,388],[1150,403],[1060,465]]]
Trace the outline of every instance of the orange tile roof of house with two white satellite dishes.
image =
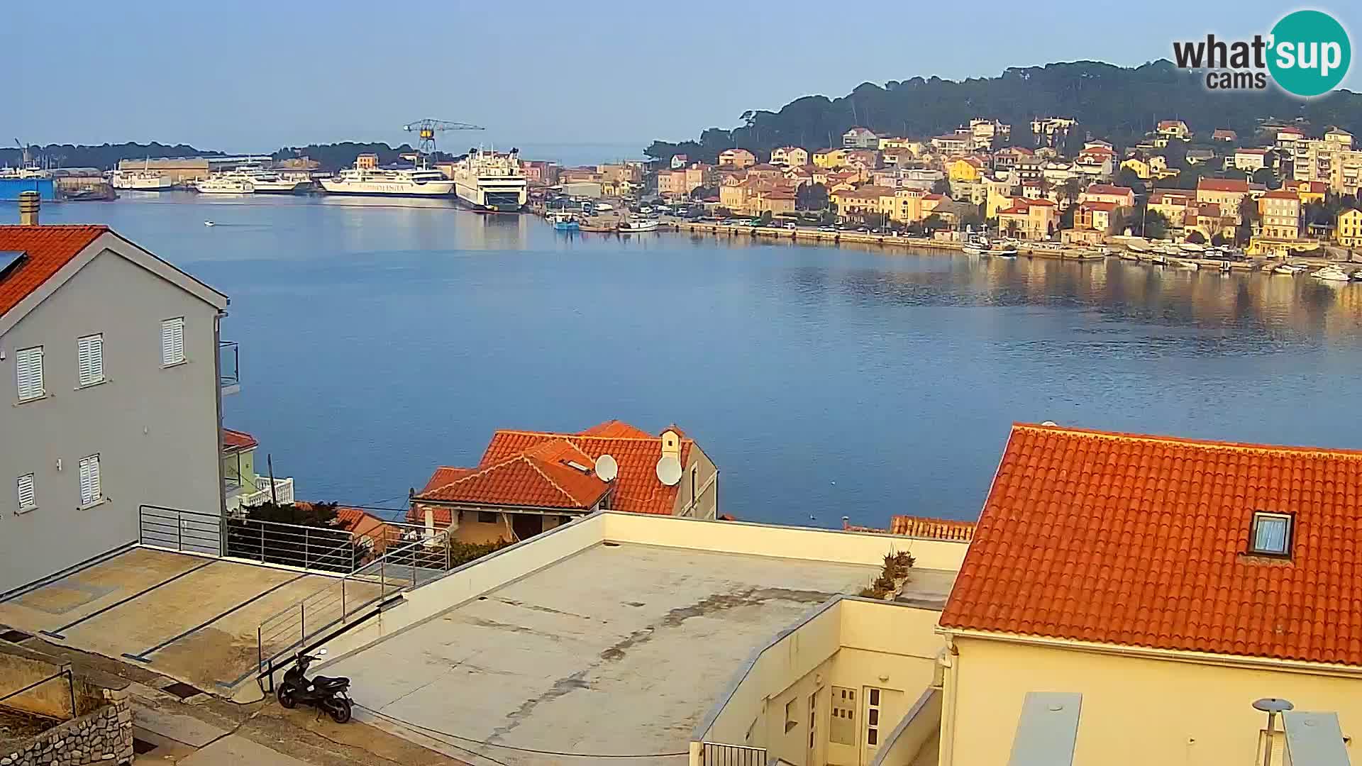
[[[681,435],[681,465],[686,465],[695,440]],[[620,466],[614,481],[595,476],[595,459],[612,455]],[[579,433],[543,431],[497,431],[477,468],[441,466],[414,497],[449,503],[489,506],[533,506],[590,510],[610,492],[610,508],[640,514],[670,515],[680,484],[658,481],[662,438],[610,420]],[[580,472],[568,462],[590,469]],[[424,511],[409,518],[424,521]],[[436,519],[448,523],[448,510],[436,510]]]

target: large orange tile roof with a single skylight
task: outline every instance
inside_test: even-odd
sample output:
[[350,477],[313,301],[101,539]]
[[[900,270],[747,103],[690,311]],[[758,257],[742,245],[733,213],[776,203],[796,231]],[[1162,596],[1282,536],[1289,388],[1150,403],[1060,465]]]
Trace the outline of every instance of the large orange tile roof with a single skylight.
[[1362,665],[1359,493],[1362,451],[1016,424],[941,624]]

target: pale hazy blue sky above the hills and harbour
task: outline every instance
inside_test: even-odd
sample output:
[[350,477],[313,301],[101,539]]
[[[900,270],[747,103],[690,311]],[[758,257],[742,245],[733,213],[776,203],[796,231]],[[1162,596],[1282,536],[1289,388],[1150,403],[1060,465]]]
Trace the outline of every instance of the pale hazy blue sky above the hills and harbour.
[[[1352,35],[1362,4],[1312,5]],[[1174,40],[1267,33],[1269,1],[919,3],[61,0],[0,15],[0,136],[223,151],[409,136],[434,117],[477,142],[637,144],[733,127],[746,109],[862,82],[1171,57]],[[1362,90],[1362,63],[1344,87]],[[7,129],[8,128],[8,129]],[[452,146],[470,144],[455,134]]]

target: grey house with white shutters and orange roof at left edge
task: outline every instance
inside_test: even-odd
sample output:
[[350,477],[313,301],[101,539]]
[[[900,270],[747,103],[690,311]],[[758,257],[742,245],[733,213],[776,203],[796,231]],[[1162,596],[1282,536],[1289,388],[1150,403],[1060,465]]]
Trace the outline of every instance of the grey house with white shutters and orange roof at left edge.
[[3,596],[136,542],[143,504],[221,512],[227,297],[99,226],[0,255]]

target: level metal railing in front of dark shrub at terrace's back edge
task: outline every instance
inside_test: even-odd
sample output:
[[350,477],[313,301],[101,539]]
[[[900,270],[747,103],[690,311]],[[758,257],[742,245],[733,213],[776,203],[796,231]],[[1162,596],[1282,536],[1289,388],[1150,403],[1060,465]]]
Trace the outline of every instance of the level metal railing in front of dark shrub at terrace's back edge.
[[338,574],[351,574],[370,557],[355,536],[343,529],[251,517],[227,518],[223,542],[225,555],[237,559]]

